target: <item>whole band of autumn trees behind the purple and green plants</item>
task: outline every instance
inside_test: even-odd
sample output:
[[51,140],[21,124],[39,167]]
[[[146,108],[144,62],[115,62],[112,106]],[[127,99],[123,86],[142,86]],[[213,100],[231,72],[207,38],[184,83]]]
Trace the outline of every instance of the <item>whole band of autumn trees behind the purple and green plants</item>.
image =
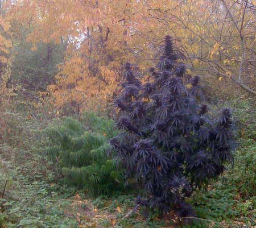
[[1,1],[1,91],[7,100],[47,96],[63,112],[104,109],[120,65],[154,67],[172,34],[210,96],[253,97],[255,9],[232,0]]

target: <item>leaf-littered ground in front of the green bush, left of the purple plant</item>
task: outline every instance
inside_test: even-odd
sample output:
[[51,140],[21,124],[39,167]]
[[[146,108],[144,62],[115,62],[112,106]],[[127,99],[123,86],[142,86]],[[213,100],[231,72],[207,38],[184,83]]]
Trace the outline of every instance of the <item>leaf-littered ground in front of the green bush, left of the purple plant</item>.
[[[137,214],[122,217],[134,207],[133,194],[92,198],[60,185],[51,164],[42,156],[9,146],[0,147],[0,227],[164,227],[165,221]],[[2,193],[1,193],[2,194]]]

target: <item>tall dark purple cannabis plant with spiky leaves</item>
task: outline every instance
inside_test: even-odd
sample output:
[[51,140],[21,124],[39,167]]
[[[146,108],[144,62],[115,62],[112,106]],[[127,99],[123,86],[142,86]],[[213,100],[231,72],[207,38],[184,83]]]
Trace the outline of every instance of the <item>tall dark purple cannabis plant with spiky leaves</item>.
[[[126,178],[144,192],[144,205],[161,212],[192,215],[184,202],[193,190],[208,184],[233,163],[232,115],[208,114],[200,78],[186,74],[170,36],[151,80],[142,82],[125,64],[115,105],[120,133],[110,140]],[[190,86],[187,86],[190,84]]]

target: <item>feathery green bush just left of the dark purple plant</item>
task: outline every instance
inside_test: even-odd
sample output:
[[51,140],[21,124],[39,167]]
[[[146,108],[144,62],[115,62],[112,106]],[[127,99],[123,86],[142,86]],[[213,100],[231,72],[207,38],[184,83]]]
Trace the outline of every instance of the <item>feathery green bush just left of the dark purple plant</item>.
[[69,184],[93,194],[109,194],[122,186],[117,162],[108,159],[108,140],[117,134],[114,122],[85,113],[80,121],[64,117],[46,128],[47,155]]

